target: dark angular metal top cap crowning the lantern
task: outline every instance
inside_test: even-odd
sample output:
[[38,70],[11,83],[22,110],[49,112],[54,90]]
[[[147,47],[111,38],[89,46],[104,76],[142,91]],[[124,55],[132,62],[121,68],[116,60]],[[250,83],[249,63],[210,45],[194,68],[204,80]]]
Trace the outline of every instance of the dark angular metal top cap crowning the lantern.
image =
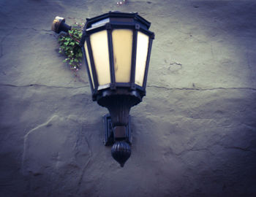
[[140,23],[143,23],[147,28],[150,27],[151,23],[148,22],[145,18],[142,18],[140,15],[138,15],[138,12],[118,12],[118,11],[110,11],[108,13],[105,13],[103,15],[99,15],[94,18],[86,18],[87,26],[91,26],[93,23],[97,23],[99,20],[104,20],[106,18],[133,18],[137,20]]

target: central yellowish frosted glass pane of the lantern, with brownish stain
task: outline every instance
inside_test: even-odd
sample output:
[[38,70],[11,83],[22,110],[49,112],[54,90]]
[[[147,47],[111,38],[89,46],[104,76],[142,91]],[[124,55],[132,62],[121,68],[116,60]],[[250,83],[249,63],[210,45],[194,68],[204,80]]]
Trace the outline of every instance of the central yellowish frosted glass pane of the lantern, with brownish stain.
[[112,39],[116,82],[129,82],[132,64],[132,30],[113,30]]

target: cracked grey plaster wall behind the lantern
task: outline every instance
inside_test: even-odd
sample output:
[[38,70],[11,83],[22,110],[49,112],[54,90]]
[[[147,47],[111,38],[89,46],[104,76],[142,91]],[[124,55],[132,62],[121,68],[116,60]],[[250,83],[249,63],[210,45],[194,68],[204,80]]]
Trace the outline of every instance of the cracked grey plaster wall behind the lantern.
[[[110,10],[156,38],[124,168],[50,31]],[[256,196],[256,1],[0,1],[0,196]]]

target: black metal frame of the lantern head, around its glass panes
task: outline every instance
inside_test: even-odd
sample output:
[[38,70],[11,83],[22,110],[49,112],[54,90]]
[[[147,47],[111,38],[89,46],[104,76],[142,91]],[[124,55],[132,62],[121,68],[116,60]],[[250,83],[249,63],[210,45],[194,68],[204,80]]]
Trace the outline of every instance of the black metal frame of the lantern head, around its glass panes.
[[[108,19],[108,20],[106,20]],[[95,18],[87,18],[86,25],[83,29],[83,36],[80,40],[80,46],[83,48],[84,59],[86,62],[86,69],[89,74],[89,81],[91,85],[92,99],[93,101],[97,100],[97,96],[102,94],[102,90],[110,89],[116,90],[116,88],[128,88],[129,90],[138,90],[140,96],[146,95],[146,80],[148,74],[148,64],[151,54],[151,45],[152,39],[154,39],[154,33],[148,31],[150,23],[144,18],[140,17],[138,13],[124,13],[124,12],[108,12],[104,15],[99,15]],[[103,21],[103,23],[99,23]],[[105,23],[108,22],[108,23]],[[94,24],[99,23],[99,25],[94,26]],[[115,68],[113,60],[113,42],[112,42],[112,31],[113,29],[131,29],[133,31],[132,38],[132,65],[131,65],[131,76],[129,82],[116,82],[115,78]],[[99,31],[106,30],[108,33],[108,51],[109,51],[109,63],[110,63],[110,84],[108,85],[99,85],[97,80],[97,72],[95,69],[93,53],[91,50],[90,36]],[[143,77],[143,85],[135,84],[135,70],[136,70],[136,54],[137,54],[137,39],[138,31],[141,31],[143,34],[148,35],[148,54],[146,59],[146,68]],[[89,64],[86,59],[86,52],[84,48],[84,42],[86,42],[89,53],[89,61],[91,63],[91,74],[89,72]],[[94,82],[94,87],[92,85],[92,80]]]

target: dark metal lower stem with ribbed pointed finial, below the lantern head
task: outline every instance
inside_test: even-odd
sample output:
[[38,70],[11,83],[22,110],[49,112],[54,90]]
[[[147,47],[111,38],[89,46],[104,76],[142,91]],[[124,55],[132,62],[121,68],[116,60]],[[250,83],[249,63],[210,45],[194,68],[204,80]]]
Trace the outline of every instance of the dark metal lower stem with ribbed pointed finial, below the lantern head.
[[142,96],[137,90],[118,88],[102,90],[97,95],[97,103],[107,107],[110,115],[105,116],[105,145],[113,144],[112,157],[121,165],[131,155],[131,132],[129,110],[140,103]]

